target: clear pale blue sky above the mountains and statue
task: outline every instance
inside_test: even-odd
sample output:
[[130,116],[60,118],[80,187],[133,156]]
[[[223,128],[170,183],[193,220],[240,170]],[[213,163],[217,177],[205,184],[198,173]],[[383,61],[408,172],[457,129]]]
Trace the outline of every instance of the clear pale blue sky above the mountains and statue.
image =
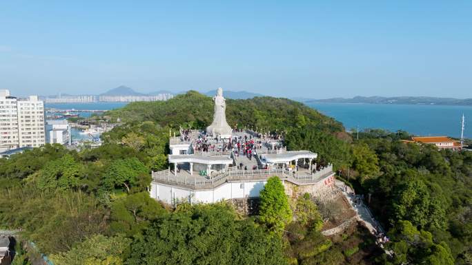
[[471,98],[471,14],[469,0],[0,1],[0,88]]

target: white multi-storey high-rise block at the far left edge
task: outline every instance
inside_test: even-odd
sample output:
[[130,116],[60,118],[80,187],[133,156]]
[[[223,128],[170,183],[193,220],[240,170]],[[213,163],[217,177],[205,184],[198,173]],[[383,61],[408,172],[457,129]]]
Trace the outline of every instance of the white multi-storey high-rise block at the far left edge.
[[43,101],[37,96],[15,98],[0,90],[0,151],[45,143]]

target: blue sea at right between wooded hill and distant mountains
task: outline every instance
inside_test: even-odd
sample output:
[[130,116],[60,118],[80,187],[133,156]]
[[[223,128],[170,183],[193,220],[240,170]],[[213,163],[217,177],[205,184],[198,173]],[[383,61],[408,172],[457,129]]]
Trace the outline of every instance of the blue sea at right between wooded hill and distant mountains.
[[471,106],[440,105],[387,105],[310,103],[310,107],[344,124],[346,130],[359,126],[382,128],[389,131],[402,129],[417,136],[451,136],[460,138],[462,114],[466,126],[464,138],[472,138]]

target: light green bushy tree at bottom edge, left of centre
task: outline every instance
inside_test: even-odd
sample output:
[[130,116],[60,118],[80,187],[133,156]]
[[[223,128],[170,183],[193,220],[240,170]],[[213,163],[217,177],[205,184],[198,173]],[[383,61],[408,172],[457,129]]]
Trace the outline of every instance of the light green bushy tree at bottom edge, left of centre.
[[123,235],[94,235],[70,251],[50,255],[50,259],[61,265],[121,265],[130,243]]

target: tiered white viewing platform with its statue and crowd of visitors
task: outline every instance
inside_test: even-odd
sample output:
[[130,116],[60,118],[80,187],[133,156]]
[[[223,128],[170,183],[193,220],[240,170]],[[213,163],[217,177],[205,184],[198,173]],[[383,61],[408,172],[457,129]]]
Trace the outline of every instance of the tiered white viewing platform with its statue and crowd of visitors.
[[180,136],[170,138],[170,167],[152,173],[151,198],[168,204],[257,198],[272,176],[278,176],[286,189],[332,187],[333,165],[317,166],[317,153],[287,151],[282,135],[231,129],[222,89],[214,100],[212,125],[181,130]]

